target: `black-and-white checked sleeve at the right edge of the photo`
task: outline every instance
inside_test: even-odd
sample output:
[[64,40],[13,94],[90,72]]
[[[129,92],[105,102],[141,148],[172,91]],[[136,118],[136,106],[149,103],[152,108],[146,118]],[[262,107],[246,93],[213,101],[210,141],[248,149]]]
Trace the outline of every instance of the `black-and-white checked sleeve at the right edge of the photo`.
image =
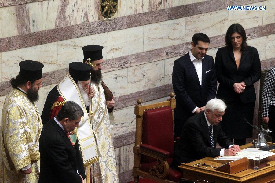
[[269,106],[273,88],[275,86],[275,67],[266,71],[264,86],[262,89],[262,117],[269,117]]

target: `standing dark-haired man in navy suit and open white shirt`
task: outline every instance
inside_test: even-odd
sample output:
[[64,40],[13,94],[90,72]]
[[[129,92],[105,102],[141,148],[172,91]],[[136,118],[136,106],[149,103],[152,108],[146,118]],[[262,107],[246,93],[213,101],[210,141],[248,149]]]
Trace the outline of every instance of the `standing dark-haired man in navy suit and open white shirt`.
[[194,34],[192,49],[174,62],[172,81],[176,94],[175,138],[181,134],[185,121],[203,111],[206,102],[216,96],[214,59],[206,55],[209,43],[206,34]]

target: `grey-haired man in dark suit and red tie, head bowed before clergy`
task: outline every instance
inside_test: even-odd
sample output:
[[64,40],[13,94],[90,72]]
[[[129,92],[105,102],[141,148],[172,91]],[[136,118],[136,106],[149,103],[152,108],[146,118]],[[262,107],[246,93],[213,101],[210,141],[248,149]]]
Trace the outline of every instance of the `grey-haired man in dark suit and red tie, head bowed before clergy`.
[[39,183],[83,183],[86,176],[78,141],[73,145],[68,135],[78,127],[82,116],[81,107],[68,101],[43,127],[39,139]]

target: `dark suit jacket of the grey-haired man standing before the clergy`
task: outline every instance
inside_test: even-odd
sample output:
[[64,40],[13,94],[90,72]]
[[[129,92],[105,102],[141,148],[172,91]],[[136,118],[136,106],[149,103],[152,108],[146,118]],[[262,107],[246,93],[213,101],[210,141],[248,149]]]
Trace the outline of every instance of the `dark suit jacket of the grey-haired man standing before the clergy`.
[[80,183],[79,174],[83,179],[86,178],[78,141],[73,147],[66,133],[54,119],[47,122],[42,129],[39,152],[39,183]]

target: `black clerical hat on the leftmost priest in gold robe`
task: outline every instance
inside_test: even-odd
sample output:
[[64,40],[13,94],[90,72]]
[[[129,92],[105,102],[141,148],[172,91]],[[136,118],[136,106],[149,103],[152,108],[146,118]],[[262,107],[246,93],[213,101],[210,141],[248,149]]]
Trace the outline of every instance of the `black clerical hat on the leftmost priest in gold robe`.
[[18,78],[27,80],[27,81],[35,81],[39,80],[43,77],[42,68],[44,65],[40,62],[33,60],[24,60],[19,62],[20,66]]

